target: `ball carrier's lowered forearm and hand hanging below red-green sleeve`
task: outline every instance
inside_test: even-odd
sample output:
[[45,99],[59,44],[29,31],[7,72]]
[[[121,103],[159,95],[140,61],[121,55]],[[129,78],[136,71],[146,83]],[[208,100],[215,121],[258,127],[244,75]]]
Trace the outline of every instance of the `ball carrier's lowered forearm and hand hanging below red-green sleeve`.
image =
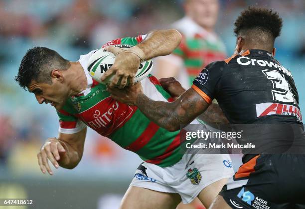
[[37,154],[38,164],[42,173],[46,171],[53,175],[48,160],[57,169],[75,168],[80,162],[86,137],[87,128],[75,134],[59,133],[58,138],[49,138]]

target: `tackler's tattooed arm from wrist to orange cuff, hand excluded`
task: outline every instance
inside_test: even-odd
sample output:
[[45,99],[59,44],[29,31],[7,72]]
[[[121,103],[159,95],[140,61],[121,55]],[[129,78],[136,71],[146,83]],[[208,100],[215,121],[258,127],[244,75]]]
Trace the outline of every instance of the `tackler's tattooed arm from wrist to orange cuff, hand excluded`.
[[181,125],[188,125],[209,106],[192,88],[172,103],[153,101],[140,94],[136,105],[150,120],[169,131],[176,131]]

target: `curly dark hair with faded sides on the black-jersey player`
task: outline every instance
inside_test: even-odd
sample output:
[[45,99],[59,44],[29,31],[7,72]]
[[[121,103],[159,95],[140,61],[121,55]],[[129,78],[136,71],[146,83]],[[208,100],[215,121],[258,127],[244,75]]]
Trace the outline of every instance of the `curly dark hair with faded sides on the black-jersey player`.
[[[272,9],[249,6],[237,17],[234,28],[236,36],[249,29],[272,36],[273,40],[281,34],[283,20]],[[251,31],[252,32],[252,31]]]

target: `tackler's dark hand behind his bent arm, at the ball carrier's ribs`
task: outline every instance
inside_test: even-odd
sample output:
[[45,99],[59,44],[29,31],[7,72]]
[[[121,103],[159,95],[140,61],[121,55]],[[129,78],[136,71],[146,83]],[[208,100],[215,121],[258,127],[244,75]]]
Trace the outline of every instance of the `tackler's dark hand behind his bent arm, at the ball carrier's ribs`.
[[159,79],[159,82],[164,90],[167,91],[174,99],[175,97],[179,97],[185,91],[179,81],[173,77],[161,78]]

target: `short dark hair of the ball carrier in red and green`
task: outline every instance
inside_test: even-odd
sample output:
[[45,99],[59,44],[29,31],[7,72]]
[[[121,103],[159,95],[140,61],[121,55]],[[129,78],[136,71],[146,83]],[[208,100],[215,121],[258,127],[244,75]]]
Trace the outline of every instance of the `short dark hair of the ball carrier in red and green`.
[[32,82],[44,82],[51,84],[51,72],[54,69],[66,70],[70,67],[70,62],[60,56],[56,51],[36,46],[23,56],[15,81],[26,90]]

